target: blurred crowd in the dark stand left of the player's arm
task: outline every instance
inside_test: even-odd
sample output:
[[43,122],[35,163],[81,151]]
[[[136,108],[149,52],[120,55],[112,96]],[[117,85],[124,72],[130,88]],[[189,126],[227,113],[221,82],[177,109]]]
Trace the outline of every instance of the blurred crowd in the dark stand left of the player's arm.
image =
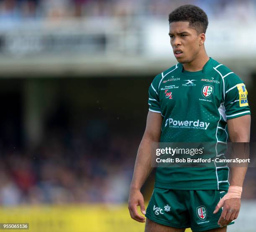
[[139,140],[87,128],[49,131],[33,151],[2,146],[0,205],[126,202]]

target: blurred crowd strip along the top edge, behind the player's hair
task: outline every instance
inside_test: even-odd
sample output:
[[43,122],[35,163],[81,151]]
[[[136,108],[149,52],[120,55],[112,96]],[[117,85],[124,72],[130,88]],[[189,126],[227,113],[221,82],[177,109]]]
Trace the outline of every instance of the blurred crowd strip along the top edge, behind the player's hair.
[[1,0],[0,20],[134,15],[166,18],[184,4],[201,7],[209,18],[246,19],[256,15],[255,0]]

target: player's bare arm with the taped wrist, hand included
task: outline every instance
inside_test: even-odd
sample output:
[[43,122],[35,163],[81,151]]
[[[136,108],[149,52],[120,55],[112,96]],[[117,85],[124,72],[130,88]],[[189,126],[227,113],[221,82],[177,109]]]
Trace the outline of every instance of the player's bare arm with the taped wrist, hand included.
[[[231,142],[247,143],[250,140],[251,115],[244,115],[238,118],[229,119],[228,133]],[[239,145],[239,144],[238,144]],[[238,146],[242,147],[242,146]],[[230,187],[228,193],[215,207],[213,213],[217,213],[223,206],[223,211],[218,221],[220,227],[228,225],[238,217],[241,207],[241,193],[247,167],[231,167]],[[226,199],[225,199],[226,198]]]

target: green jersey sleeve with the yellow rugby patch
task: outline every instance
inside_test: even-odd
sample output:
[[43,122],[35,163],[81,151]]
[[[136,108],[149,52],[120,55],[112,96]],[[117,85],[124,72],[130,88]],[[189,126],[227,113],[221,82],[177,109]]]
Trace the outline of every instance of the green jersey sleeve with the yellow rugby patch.
[[243,81],[232,74],[224,78],[225,83],[225,114],[227,119],[234,119],[251,114],[247,100],[247,90]]

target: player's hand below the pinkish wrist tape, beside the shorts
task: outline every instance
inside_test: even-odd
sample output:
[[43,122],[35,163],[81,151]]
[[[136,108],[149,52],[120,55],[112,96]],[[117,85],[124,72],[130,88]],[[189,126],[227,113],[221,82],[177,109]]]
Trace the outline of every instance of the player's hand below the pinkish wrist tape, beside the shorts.
[[[224,226],[227,226],[234,219],[237,219],[240,207],[241,207],[241,199],[239,198],[226,199],[223,204],[223,211],[220,215],[218,225],[220,225],[220,227],[224,227]],[[216,214],[219,211],[219,209],[220,208],[216,206],[213,213]]]

